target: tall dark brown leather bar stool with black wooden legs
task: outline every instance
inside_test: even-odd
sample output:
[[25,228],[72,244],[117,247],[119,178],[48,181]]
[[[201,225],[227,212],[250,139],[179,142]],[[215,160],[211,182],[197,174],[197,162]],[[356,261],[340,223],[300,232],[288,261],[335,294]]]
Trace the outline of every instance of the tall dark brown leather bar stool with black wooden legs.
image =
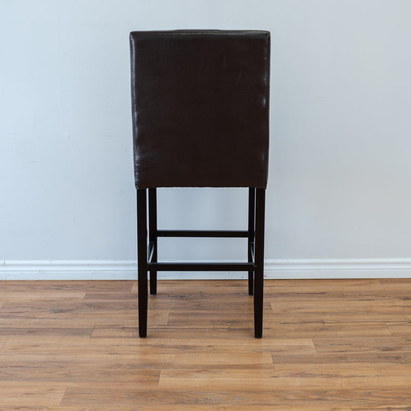
[[[151,294],[157,271],[248,271],[261,338],[270,33],[133,31],[130,47],[139,335],[147,335],[147,271]],[[248,230],[158,230],[157,187],[247,187]],[[158,237],[248,238],[248,263],[158,263]]]

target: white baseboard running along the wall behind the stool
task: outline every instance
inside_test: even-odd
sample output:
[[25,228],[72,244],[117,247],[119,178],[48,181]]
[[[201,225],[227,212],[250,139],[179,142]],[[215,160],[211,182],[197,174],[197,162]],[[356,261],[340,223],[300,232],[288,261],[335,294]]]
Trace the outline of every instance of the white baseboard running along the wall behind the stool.
[[[406,278],[411,258],[272,259],[265,278]],[[239,279],[246,272],[159,272],[159,279]],[[135,260],[3,260],[0,280],[137,279]]]

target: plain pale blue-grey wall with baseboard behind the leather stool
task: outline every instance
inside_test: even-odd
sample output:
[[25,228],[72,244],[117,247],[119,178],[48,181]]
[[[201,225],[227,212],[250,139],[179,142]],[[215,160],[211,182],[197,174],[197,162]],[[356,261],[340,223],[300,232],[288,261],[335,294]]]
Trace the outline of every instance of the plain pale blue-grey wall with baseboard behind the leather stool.
[[[410,275],[410,21],[407,0],[0,0],[3,278],[135,276],[128,33],[175,28],[272,33],[271,275]],[[245,229],[246,202],[164,189],[159,223]],[[164,259],[245,256],[167,241]]]

